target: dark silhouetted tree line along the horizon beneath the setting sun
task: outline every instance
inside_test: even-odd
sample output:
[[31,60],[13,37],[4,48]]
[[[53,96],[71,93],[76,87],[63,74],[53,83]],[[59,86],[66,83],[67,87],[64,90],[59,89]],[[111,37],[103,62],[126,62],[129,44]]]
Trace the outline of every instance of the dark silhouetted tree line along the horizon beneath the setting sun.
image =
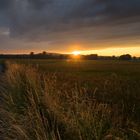
[[72,54],[58,54],[48,53],[43,51],[42,53],[35,54],[1,54],[1,59],[84,59],[84,60],[140,60],[140,57],[132,57],[130,54],[123,54],[121,56],[99,56],[98,54],[79,55],[74,57]]

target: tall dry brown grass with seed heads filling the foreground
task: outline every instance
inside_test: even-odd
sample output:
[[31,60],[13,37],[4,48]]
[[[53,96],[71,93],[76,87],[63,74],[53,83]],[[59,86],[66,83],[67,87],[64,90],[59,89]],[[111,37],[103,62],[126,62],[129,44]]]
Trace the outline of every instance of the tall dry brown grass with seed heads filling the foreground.
[[132,94],[129,81],[112,76],[92,87],[30,66],[7,63],[7,69],[1,85],[3,139],[140,138],[139,89]]

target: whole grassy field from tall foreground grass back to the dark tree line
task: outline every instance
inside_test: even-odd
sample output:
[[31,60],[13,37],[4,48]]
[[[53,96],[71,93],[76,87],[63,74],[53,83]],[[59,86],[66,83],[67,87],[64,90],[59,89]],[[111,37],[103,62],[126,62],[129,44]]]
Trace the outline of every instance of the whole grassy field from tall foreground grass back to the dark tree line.
[[6,68],[0,138],[140,139],[140,62],[12,60]]

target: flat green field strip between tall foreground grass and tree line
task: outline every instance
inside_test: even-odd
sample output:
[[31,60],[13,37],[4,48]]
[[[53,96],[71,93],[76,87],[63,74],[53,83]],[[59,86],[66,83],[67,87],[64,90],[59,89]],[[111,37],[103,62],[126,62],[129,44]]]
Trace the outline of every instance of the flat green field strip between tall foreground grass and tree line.
[[106,60],[17,60],[18,63],[38,66],[45,72],[64,72],[85,75],[110,75],[116,73],[124,76],[140,75],[140,61],[106,61]]

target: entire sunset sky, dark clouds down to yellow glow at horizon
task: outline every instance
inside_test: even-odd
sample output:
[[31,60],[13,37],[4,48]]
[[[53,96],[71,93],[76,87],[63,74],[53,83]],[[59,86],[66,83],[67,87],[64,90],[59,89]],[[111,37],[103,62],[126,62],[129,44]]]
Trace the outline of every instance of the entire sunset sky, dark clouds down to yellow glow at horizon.
[[0,0],[0,53],[140,56],[140,0]]

